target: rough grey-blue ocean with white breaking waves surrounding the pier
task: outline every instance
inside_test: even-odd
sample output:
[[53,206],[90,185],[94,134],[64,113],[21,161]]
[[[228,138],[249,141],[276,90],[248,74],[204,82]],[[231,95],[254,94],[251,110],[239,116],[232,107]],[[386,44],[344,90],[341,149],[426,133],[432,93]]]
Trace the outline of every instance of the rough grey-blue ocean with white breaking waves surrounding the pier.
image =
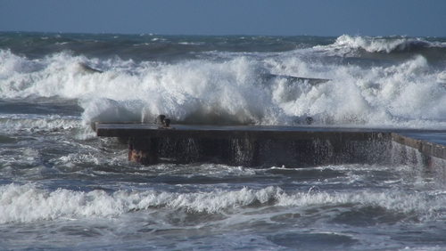
[[92,130],[160,114],[442,134],[446,37],[0,32],[0,249],[446,248],[438,170],[142,166]]

